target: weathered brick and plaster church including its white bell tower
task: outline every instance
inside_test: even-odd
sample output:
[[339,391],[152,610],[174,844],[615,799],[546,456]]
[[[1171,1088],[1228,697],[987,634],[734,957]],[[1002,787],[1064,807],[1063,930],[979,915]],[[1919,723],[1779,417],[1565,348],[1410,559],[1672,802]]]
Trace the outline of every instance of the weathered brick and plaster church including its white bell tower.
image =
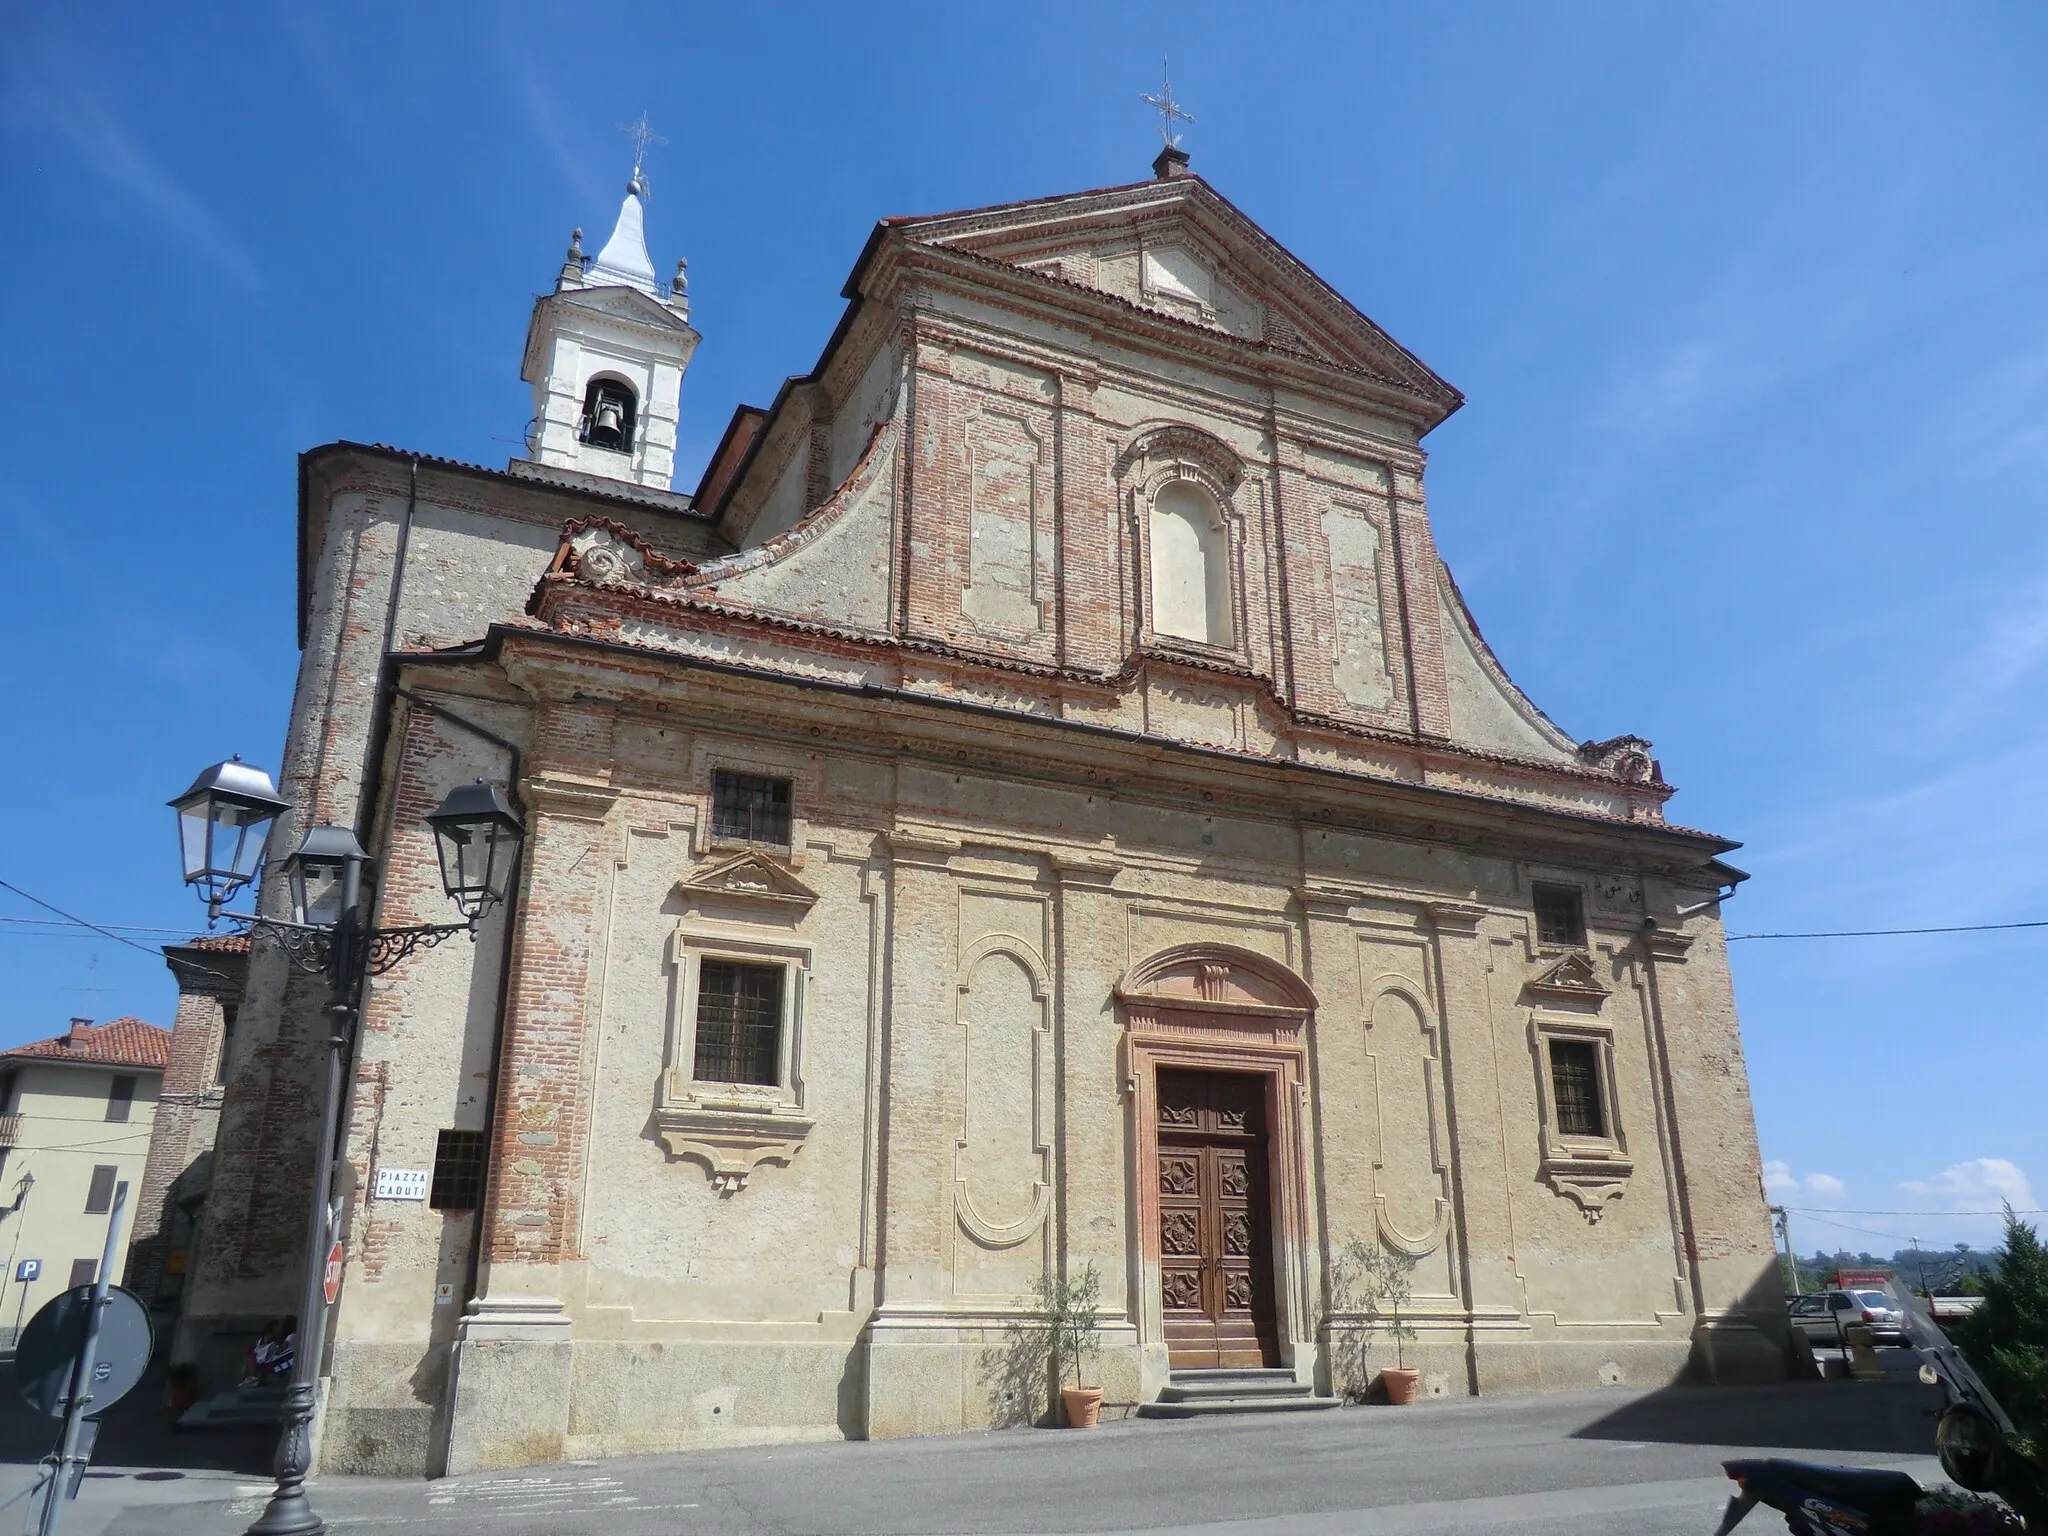
[[[1343,1393],[1362,1253],[1430,1393],[1778,1374],[1735,844],[1487,649],[1458,393],[1178,150],[887,219],[846,293],[672,492],[635,186],[535,305],[524,459],[301,461],[297,825],[397,926],[453,784],[526,821],[477,942],[369,989],[319,1464],[1030,1421],[1018,1325],[1090,1272],[1112,1403]],[[317,1001],[254,948],[215,1374],[291,1309]]]

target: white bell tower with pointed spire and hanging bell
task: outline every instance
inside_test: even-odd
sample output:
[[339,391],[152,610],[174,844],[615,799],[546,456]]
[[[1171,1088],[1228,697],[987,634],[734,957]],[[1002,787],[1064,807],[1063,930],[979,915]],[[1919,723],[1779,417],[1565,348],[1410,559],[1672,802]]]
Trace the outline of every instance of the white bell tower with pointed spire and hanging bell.
[[[649,137],[641,123],[643,150]],[[647,256],[647,178],[635,156],[604,250],[584,256],[578,229],[555,291],[532,305],[520,365],[532,385],[526,461],[670,489],[682,373],[696,342],[686,264],[662,285]]]

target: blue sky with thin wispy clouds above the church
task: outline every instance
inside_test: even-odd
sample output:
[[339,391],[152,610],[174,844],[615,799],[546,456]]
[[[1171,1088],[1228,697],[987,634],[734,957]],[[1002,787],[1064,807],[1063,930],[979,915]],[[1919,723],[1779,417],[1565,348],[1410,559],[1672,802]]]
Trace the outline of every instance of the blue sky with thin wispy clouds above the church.
[[[274,764],[301,449],[516,451],[526,309],[645,109],[688,487],[872,221],[1194,168],[1468,397],[1432,510],[1581,737],[1747,846],[1733,932],[2048,918],[2048,12],[41,6],[0,41],[0,879],[188,932],[164,799]],[[0,1044],[168,1022],[0,891]],[[145,932],[164,930],[164,932]],[[2048,930],[1737,944],[1802,1249],[2048,1202]],[[2034,1180],[2030,1184],[2028,1180]],[[2036,1194],[2040,1192],[2040,1194]]]

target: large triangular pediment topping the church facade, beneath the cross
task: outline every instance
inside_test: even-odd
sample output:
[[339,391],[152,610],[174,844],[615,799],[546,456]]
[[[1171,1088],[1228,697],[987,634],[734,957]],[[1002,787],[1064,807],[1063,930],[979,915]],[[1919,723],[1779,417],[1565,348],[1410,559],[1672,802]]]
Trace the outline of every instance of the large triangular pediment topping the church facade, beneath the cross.
[[1198,176],[893,221],[1274,352],[1368,373],[1448,414],[1456,389]]

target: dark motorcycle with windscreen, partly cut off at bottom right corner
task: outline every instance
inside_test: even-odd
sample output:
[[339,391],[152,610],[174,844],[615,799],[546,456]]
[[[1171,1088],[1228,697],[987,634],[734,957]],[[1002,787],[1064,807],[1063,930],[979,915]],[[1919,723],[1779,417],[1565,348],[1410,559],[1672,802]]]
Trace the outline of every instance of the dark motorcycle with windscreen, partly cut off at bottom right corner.
[[[1942,1389],[1942,1407],[1929,1409],[1929,1417],[1939,1415],[1933,1446],[1950,1483],[1970,1493],[1997,1493],[2025,1530],[2048,1532],[2048,1470],[2013,1444],[2013,1421],[1919,1296],[1907,1307],[1907,1339],[1921,1352],[1921,1382]],[[1739,1493],[1729,1499],[1714,1536],[1729,1536],[1759,1503],[1782,1513],[1792,1536],[1917,1536],[1933,1524],[1923,1509],[1927,1491],[1905,1473],[1778,1456],[1720,1466]]]

